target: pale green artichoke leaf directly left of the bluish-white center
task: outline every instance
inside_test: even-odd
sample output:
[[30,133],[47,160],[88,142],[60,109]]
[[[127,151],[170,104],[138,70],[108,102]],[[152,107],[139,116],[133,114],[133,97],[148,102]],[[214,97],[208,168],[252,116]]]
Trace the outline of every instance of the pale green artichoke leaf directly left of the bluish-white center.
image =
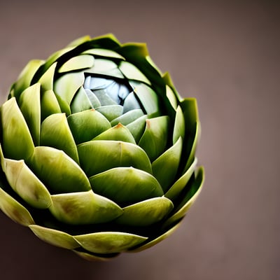
[[83,71],[66,73],[55,80],[54,92],[70,105],[75,93],[83,85],[84,81],[85,75]]

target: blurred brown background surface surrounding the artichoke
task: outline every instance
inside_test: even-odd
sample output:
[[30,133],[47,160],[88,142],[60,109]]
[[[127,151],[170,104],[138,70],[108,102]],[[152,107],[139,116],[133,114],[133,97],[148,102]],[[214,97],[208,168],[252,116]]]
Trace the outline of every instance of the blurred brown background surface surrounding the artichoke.
[[142,253],[87,262],[0,214],[0,279],[280,279],[279,1],[1,1],[0,92],[29,59],[112,32],[146,42],[196,97],[206,182],[181,228]]

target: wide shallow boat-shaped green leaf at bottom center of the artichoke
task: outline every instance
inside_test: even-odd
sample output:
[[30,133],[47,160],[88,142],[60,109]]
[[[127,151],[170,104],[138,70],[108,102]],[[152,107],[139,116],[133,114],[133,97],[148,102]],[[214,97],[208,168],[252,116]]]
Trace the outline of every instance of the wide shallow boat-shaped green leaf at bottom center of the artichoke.
[[127,251],[146,241],[147,237],[126,232],[94,232],[87,235],[76,235],[74,239],[87,251],[108,254]]

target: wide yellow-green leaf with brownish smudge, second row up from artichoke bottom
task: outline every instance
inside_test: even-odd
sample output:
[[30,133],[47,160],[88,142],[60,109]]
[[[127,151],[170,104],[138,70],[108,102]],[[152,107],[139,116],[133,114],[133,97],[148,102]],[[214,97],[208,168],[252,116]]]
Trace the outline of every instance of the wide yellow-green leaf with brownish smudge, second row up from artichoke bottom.
[[107,223],[123,214],[118,204],[92,190],[52,195],[50,211],[58,221],[71,225]]

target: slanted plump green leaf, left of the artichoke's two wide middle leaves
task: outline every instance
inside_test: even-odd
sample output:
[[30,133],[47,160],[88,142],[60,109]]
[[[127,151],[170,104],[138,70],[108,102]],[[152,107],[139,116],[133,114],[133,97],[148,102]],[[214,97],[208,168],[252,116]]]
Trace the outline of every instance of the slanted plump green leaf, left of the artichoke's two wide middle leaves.
[[63,151],[38,146],[27,165],[51,193],[72,193],[91,189],[83,170]]

